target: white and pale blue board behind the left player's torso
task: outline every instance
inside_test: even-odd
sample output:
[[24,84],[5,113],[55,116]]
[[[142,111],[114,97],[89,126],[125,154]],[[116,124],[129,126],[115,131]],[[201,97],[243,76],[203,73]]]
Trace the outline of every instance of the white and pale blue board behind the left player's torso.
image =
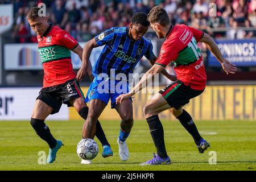
[[[85,42],[79,43],[84,47]],[[152,40],[153,52],[156,53],[156,41]],[[94,48],[90,54],[90,62],[94,65],[100,56],[104,46]],[[81,59],[76,53],[71,51],[73,69],[81,68]],[[146,59],[146,58],[143,58]],[[38,53],[38,44],[5,44],[4,47],[5,70],[39,70],[43,69]]]

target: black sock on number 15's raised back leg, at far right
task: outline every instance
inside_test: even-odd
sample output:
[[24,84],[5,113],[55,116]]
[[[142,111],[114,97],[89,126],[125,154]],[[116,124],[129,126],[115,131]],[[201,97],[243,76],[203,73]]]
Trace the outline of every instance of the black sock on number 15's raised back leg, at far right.
[[177,119],[179,119],[181,125],[188,131],[188,133],[192,135],[195,143],[198,144],[202,137],[199,134],[191,115],[183,109],[183,113],[179,115]]

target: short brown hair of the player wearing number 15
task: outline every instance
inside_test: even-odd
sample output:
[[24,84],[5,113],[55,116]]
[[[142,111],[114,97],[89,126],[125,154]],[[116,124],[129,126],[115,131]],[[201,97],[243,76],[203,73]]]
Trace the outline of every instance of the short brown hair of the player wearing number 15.
[[162,26],[168,26],[170,24],[168,14],[161,6],[153,7],[147,15],[147,20],[150,21],[150,23],[159,23]]

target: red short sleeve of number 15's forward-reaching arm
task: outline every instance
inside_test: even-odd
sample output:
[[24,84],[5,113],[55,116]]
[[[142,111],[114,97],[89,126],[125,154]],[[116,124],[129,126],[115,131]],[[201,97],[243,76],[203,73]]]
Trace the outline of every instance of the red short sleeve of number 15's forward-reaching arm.
[[162,65],[166,67],[171,61],[175,61],[179,56],[178,46],[174,43],[174,41],[164,42],[158,59],[155,61],[155,64]]

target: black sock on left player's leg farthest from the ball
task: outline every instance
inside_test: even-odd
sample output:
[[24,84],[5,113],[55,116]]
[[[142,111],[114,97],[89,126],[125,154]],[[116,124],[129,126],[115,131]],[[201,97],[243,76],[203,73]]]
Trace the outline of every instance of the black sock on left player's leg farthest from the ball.
[[44,123],[44,120],[31,118],[30,123],[35,129],[36,134],[45,140],[50,148],[54,148],[56,146],[57,140],[52,136],[49,127]]

